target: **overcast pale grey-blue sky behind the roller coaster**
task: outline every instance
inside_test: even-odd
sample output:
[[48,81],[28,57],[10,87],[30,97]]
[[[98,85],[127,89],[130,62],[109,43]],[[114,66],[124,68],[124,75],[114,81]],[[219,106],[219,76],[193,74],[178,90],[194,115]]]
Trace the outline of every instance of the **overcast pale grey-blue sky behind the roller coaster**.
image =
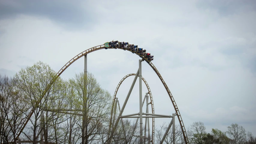
[[[37,61],[55,71],[90,47],[118,40],[154,55],[185,127],[202,121],[227,131],[232,123],[256,136],[255,1],[13,1],[0,0],[0,74],[13,76]],[[88,71],[114,94],[136,73],[138,57],[121,49],[88,55]],[[83,58],[61,77],[83,72]],[[146,63],[155,113],[175,113],[160,79]],[[122,105],[133,77],[121,85]],[[124,114],[139,111],[138,80]],[[143,85],[143,95],[146,87]],[[144,109],[145,110],[145,109]],[[170,119],[156,119],[156,125]],[[176,119],[176,124],[178,121]]]

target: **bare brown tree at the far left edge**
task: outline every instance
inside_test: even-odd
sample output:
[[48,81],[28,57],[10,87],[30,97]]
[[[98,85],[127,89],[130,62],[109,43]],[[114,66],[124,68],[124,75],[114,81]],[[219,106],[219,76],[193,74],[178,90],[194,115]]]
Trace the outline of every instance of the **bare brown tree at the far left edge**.
[[27,105],[17,89],[15,79],[0,75],[0,136],[1,143],[8,143],[14,140],[16,134],[24,122]]

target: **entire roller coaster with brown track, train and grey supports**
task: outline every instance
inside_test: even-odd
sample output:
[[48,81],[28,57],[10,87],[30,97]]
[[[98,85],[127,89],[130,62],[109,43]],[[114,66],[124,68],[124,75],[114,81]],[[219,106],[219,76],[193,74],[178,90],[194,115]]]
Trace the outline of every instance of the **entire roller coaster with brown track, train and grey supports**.
[[[185,126],[183,124],[183,121],[182,121],[182,118],[181,118],[181,115],[180,115],[180,112],[179,112],[179,109],[176,105],[176,102],[174,101],[174,98],[169,90],[169,88],[167,87],[166,83],[164,82],[164,79],[162,78],[162,76],[160,75],[160,73],[158,72],[158,70],[156,69],[156,67],[154,66],[154,64],[152,63],[152,60],[153,60],[153,56],[150,54],[150,53],[146,53],[146,50],[142,49],[142,48],[139,48],[137,45],[134,45],[134,44],[129,44],[128,42],[119,42],[119,41],[110,41],[110,42],[106,42],[104,43],[103,45],[98,45],[98,46],[95,46],[95,47],[92,47],[90,49],[87,49],[83,52],[81,52],[80,54],[76,55],[74,58],[72,58],[70,61],[68,61],[59,71],[58,73],[56,73],[56,75],[54,76],[54,78],[51,80],[51,82],[49,83],[49,85],[47,85],[47,87],[44,89],[43,91],[43,94],[40,96],[40,98],[38,99],[38,101],[36,101],[36,106],[40,107],[40,102],[41,100],[43,99],[44,95],[46,94],[46,92],[51,88],[51,86],[54,84],[54,82],[56,81],[56,79],[72,64],[74,63],[75,61],[77,61],[79,58],[83,57],[83,56],[86,56],[87,54],[91,53],[91,52],[94,52],[96,50],[100,50],[100,49],[123,49],[123,50],[127,50],[129,52],[132,52],[132,53],[135,53],[137,54],[138,56],[140,56],[140,58],[142,58],[140,60],[140,68],[139,70],[137,71],[137,73],[132,73],[132,74],[128,74],[126,75],[118,84],[118,86],[116,87],[116,90],[115,90],[115,93],[114,93],[114,97],[113,97],[113,101],[112,101],[112,109],[111,109],[111,117],[110,117],[110,124],[109,124],[109,135],[108,135],[108,143],[111,142],[111,139],[113,138],[113,132],[116,128],[116,125],[117,123],[119,122],[119,120],[117,120],[117,122],[115,123],[115,126],[112,126],[112,121],[115,119],[113,117],[115,117],[115,110],[116,110],[116,107],[115,105],[117,104],[117,98],[116,98],[116,94],[117,94],[117,91],[120,87],[120,85],[122,84],[122,82],[129,76],[135,76],[134,78],[134,82],[133,82],[133,85],[131,86],[131,89],[130,91],[132,90],[133,86],[134,86],[134,83],[137,79],[137,77],[139,76],[140,77],[140,85],[141,85],[141,79],[143,80],[143,82],[145,83],[147,89],[148,89],[148,92],[146,93],[145,97],[144,97],[144,100],[143,100],[143,103],[145,101],[145,98],[148,98],[147,95],[149,95],[149,98],[150,98],[150,104],[151,104],[151,108],[152,108],[152,114],[149,114],[148,113],[148,109],[147,109],[147,113],[144,114],[146,116],[144,116],[144,118],[148,119],[149,117],[152,118],[152,138],[151,138],[151,143],[154,143],[154,133],[155,133],[155,118],[157,117],[161,117],[161,115],[158,115],[158,114],[155,114],[154,113],[154,104],[153,104],[153,98],[152,98],[152,94],[151,94],[151,91],[150,91],[150,88],[149,88],[149,85],[148,83],[146,82],[146,80],[144,78],[142,78],[141,76],[141,62],[142,61],[146,61],[150,67],[152,67],[152,69],[155,71],[155,73],[157,74],[157,76],[159,77],[159,79],[161,80],[161,82],[163,83],[164,85],[164,88],[166,89],[169,97],[170,97],[170,100],[173,104],[173,107],[174,107],[174,110],[175,110],[175,116],[178,117],[178,120],[179,120],[179,124],[181,126],[181,130],[182,130],[182,135],[183,135],[183,138],[184,138],[184,141],[186,144],[189,144],[189,141],[188,141],[188,137],[187,137],[187,134],[186,134],[186,130],[185,130]],[[139,72],[140,71],[140,72]],[[141,86],[140,86],[141,87]],[[141,89],[141,88],[140,88]],[[130,92],[129,91],[129,92]],[[140,92],[141,93],[141,92]],[[129,97],[129,94],[128,96]],[[140,97],[141,97],[141,94],[140,94]],[[126,98],[128,100],[128,98]],[[127,102],[126,100],[126,102]],[[123,112],[123,109],[126,105],[126,102],[125,104],[123,105],[122,107],[122,110],[120,109],[119,107],[119,117],[118,119],[121,119],[122,121],[122,118],[138,118],[139,117],[142,119],[142,114],[141,114],[141,110],[140,110],[140,113],[136,113],[136,114],[132,114],[132,115],[126,115],[126,116],[122,116],[122,112]],[[148,101],[146,102],[148,103]],[[119,104],[119,101],[118,101],[118,104]],[[141,102],[141,98],[140,98],[140,104],[142,104]],[[148,104],[147,104],[148,105]],[[115,110],[114,110],[114,107],[115,107]],[[140,106],[142,108],[142,106]],[[19,129],[17,135],[16,135],[16,139],[19,140],[19,136],[20,134],[22,133],[23,129],[25,128],[26,124],[29,122],[29,119],[31,118],[31,116],[33,115],[33,112],[35,111],[36,107],[33,108],[26,121],[23,123],[23,125],[21,126],[21,128]],[[139,116],[136,116],[136,115],[139,115]],[[173,116],[169,116],[169,117],[175,117],[174,115]],[[167,116],[168,117],[168,116]],[[137,121],[138,121],[137,119]],[[148,120],[149,121],[149,120]],[[114,121],[113,121],[114,122]],[[136,122],[137,123],[137,122]],[[149,122],[148,122],[149,123]],[[172,123],[172,122],[171,122]],[[113,123],[114,124],[114,123]],[[175,123],[173,123],[175,124]],[[142,124],[141,124],[142,125]],[[112,128],[112,131],[111,131],[111,128]],[[145,124],[145,131],[146,131],[146,124]],[[149,133],[148,133],[149,134]],[[142,134],[140,135],[140,137],[142,138]],[[144,139],[146,139],[145,137],[143,137]],[[148,137],[150,138],[150,137]],[[162,143],[162,142],[161,142]]]

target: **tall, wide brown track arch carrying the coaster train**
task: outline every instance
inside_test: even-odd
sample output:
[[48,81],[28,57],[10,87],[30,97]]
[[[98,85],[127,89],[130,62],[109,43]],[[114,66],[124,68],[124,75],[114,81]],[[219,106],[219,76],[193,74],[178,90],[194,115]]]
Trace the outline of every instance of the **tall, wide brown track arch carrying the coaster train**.
[[[80,54],[76,55],[74,58],[72,58],[70,61],[68,61],[59,71],[58,73],[55,75],[55,77],[51,80],[51,82],[49,83],[49,85],[47,85],[47,87],[44,89],[42,95],[40,96],[40,98],[38,99],[38,101],[36,101],[36,104],[35,106],[39,107],[40,106],[40,102],[41,100],[44,98],[44,95],[47,93],[47,91],[51,88],[51,86],[54,84],[54,82],[56,81],[56,79],[63,73],[64,70],[66,70],[73,62],[75,62],[76,60],[78,60],[79,58],[83,57],[84,55],[87,55],[91,52],[94,52],[96,50],[100,50],[100,49],[114,49],[114,48],[109,48],[109,47],[105,47],[104,44],[103,45],[98,45],[98,46],[95,46],[95,47],[92,47],[90,49],[87,49],[83,52],[81,52]],[[121,49],[121,48],[118,48],[118,49]],[[130,50],[128,50],[130,51]],[[131,51],[130,51],[131,52]],[[133,52],[134,53],[134,52]],[[137,53],[135,53],[137,54]],[[137,54],[138,55],[138,54]],[[139,55],[140,56],[140,55]],[[141,56],[140,56],[141,57]],[[154,66],[154,64],[151,62],[151,61],[148,61],[146,58],[144,57],[141,57],[143,58],[151,67],[152,69],[155,71],[155,73],[157,74],[157,76],[159,77],[159,79],[161,80],[161,82],[163,83],[164,85],[164,88],[166,89],[171,101],[172,101],[172,104],[173,104],[173,107],[174,107],[174,110],[175,112],[177,113],[177,117],[179,119],[179,124],[181,126],[181,130],[182,130],[182,134],[183,134],[183,137],[184,137],[184,141],[186,144],[189,144],[189,141],[188,141],[188,137],[187,137],[187,133],[186,133],[186,130],[185,130],[185,126],[183,124],[183,121],[182,121],[182,118],[181,118],[181,115],[179,113],[179,109],[176,105],[176,102],[174,101],[174,98],[169,90],[169,88],[167,87],[166,83],[164,82],[164,79],[162,78],[162,76],[160,75],[160,73],[158,72],[158,70],[156,69],[156,67]],[[35,109],[37,107],[34,107],[32,108],[32,110],[30,111],[25,123],[23,123],[23,125],[21,126],[21,128],[19,129],[19,133],[17,134],[17,137],[16,139],[20,136],[20,134],[22,133],[23,129],[25,128],[25,126],[27,125],[27,123],[29,122],[29,119],[31,118],[31,116],[33,115],[33,112],[35,111]]]

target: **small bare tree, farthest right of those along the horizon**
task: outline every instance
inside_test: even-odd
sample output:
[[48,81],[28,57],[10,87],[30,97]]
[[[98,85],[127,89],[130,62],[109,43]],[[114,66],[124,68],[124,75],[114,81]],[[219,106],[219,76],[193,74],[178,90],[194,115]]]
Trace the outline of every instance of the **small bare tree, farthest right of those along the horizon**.
[[234,144],[243,144],[246,141],[246,131],[238,124],[231,124],[227,127],[227,134]]

